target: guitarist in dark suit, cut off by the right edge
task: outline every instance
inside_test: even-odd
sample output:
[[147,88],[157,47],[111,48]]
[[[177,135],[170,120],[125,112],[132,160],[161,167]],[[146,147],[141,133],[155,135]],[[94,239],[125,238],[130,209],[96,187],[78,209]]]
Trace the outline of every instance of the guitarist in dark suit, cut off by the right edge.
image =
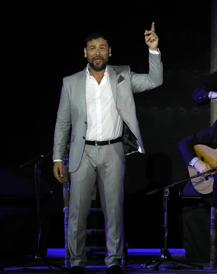
[[[213,149],[217,148],[217,120],[215,123],[209,127],[205,128],[200,132],[197,132],[187,138],[182,139],[178,148],[185,160],[185,162],[195,167],[197,171],[205,172],[211,169],[209,164],[203,162],[197,157],[197,154],[193,148],[195,145],[206,145]],[[214,197],[214,206],[217,206],[217,174],[215,175],[213,182],[213,197]]]

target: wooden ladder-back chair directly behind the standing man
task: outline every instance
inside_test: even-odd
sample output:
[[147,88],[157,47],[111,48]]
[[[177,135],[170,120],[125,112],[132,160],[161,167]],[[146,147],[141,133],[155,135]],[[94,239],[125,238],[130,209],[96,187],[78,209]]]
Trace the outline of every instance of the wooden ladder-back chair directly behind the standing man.
[[[65,266],[67,268],[70,268],[70,252],[69,252],[69,248],[68,248],[68,219],[69,219],[69,199],[70,199],[70,182],[69,182],[69,178],[70,178],[70,174],[68,171],[68,153],[70,150],[70,144],[67,145],[65,154],[64,154],[64,158],[63,158],[63,213],[64,213],[64,230],[65,230]],[[97,198],[97,185],[95,184],[94,186],[94,191],[92,194],[92,200],[96,200]],[[91,208],[90,212],[101,212],[102,213],[102,209],[101,208]],[[105,230],[87,230],[87,235],[91,235],[94,234],[96,235],[97,233],[102,233],[105,232]],[[102,251],[106,251],[106,247],[88,247],[85,248],[87,252],[102,252]],[[121,260],[121,263],[123,265],[123,267],[127,266],[127,244],[124,243],[124,254]]]

